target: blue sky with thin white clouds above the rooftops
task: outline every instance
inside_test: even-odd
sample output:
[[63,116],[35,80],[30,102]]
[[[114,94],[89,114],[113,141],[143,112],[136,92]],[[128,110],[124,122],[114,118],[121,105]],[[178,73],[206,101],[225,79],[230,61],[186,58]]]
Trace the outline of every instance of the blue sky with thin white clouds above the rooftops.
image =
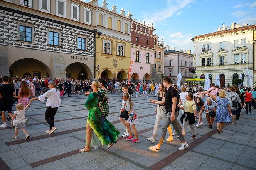
[[[89,0],[82,0],[88,2]],[[101,7],[103,0],[99,0]],[[231,26],[256,24],[256,0],[106,0],[108,9],[131,11],[141,23],[153,21],[154,34],[164,44],[182,50],[193,50],[191,38],[217,31],[222,23]]]

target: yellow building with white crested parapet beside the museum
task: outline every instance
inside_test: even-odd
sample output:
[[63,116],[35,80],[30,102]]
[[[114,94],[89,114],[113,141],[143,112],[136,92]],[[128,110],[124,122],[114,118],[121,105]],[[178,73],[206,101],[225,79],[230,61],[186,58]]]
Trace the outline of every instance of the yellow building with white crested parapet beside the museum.
[[123,8],[118,14],[115,5],[109,11],[105,0],[96,7],[95,78],[126,80],[131,62],[131,14],[126,16]]

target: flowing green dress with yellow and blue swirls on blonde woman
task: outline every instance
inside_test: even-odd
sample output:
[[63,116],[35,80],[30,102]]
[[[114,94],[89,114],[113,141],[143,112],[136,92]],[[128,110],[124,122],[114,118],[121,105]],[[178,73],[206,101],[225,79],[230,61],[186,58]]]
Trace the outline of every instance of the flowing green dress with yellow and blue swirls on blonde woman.
[[[98,95],[97,95],[98,94]],[[100,93],[92,92],[84,106],[88,109],[87,124],[93,129],[91,132],[90,147],[98,148],[101,145],[116,143],[120,131],[101,114],[99,109]]]

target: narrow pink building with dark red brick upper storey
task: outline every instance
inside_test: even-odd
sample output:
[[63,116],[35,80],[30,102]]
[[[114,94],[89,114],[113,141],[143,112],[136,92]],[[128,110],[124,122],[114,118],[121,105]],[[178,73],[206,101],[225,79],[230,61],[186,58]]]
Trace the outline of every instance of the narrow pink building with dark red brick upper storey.
[[131,21],[131,79],[133,81],[159,81],[154,63],[154,38],[152,26],[136,22],[136,18]]

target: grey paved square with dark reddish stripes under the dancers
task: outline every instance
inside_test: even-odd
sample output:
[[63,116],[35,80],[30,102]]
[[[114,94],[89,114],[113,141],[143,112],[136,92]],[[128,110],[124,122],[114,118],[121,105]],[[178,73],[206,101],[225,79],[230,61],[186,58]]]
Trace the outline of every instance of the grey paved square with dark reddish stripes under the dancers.
[[[154,153],[148,149],[154,144],[147,140],[153,134],[155,124],[156,105],[149,103],[149,99],[154,98],[152,94],[149,97],[133,96],[132,101],[135,102],[139,116],[136,127],[140,142],[131,143],[121,137],[125,129],[118,120],[121,94],[109,94],[107,119],[121,131],[118,142],[109,150],[103,146],[84,153],[79,153],[78,149],[85,144],[88,110],[84,108],[84,102],[87,96],[62,98],[61,107],[55,116],[58,130],[52,135],[45,134],[49,128],[44,120],[46,101],[35,101],[26,111],[26,117],[29,118],[26,127],[30,134],[29,141],[25,141],[22,130],[19,130],[17,140],[12,139],[14,129],[10,122],[7,122],[8,128],[0,129],[0,169],[256,169],[256,111],[245,114],[243,110],[240,122],[226,124],[221,134],[217,134],[216,122],[213,129],[207,128],[203,114],[205,124],[197,128],[196,140],[190,140],[190,128],[187,129],[185,139],[190,145],[187,149],[178,150],[180,140],[175,136],[173,141],[163,142],[159,153]],[[161,128],[157,141],[160,134]]]

